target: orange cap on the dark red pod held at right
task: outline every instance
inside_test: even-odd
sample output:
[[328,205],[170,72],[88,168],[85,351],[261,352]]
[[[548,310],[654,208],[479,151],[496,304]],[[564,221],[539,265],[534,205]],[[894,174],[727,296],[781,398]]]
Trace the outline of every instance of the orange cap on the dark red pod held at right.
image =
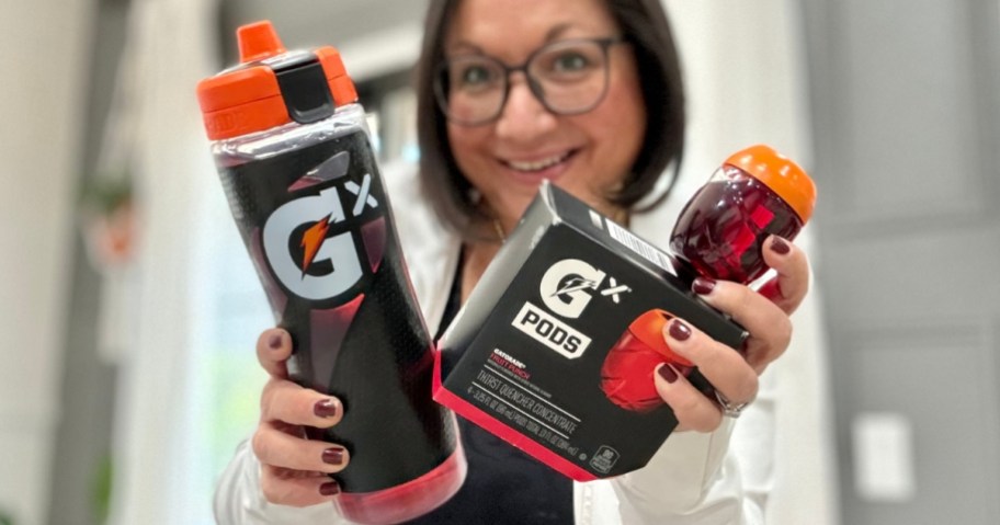
[[732,153],[724,163],[739,168],[766,184],[788,203],[803,224],[813,217],[816,184],[795,161],[779,153],[774,148],[763,144],[750,146]]

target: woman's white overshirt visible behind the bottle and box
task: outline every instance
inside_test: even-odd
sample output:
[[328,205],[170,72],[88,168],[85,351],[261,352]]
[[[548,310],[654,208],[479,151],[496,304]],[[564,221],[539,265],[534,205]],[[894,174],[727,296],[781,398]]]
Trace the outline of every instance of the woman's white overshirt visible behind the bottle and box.
[[[448,233],[420,197],[412,170],[389,174],[395,224],[410,278],[430,333],[441,322],[459,239]],[[666,246],[673,219],[660,212],[635,215],[630,230]],[[666,225],[666,226],[664,226]],[[795,343],[793,342],[793,345]],[[600,524],[762,524],[774,480],[776,367],[761,378],[760,392],[736,422],[724,419],[708,434],[672,434],[649,464],[611,480],[573,483],[575,521]],[[429,393],[430,395],[430,393]],[[241,443],[219,480],[216,521],[228,524],[349,524],[330,503],[295,509],[268,503],[260,490],[260,464]],[[488,523],[489,517],[484,516]]]

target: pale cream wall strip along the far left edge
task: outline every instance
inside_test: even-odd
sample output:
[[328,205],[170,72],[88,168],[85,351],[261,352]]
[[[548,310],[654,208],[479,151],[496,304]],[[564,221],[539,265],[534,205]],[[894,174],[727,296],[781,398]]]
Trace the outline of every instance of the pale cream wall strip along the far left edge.
[[92,2],[0,8],[0,509],[41,523],[67,317]]

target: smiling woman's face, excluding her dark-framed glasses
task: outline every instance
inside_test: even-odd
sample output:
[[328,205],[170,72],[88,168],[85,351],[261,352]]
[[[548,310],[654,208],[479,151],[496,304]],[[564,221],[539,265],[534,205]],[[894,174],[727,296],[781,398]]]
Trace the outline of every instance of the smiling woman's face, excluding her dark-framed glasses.
[[[571,38],[621,36],[603,0],[463,0],[445,35],[445,56],[492,56],[519,66],[537,48]],[[523,72],[510,75],[499,118],[448,122],[458,168],[507,229],[543,180],[611,213],[604,197],[630,170],[646,133],[646,109],[632,48],[612,45],[604,99],[579,115],[557,115],[532,93]]]

